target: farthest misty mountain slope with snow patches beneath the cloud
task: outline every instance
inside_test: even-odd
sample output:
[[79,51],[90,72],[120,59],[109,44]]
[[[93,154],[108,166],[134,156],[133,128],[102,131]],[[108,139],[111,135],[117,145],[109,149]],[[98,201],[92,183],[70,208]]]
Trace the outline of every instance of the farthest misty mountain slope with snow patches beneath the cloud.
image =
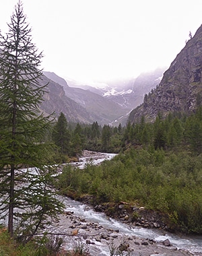
[[[144,94],[156,88],[165,70],[166,67],[161,67],[154,71],[141,73],[136,78],[116,79],[94,84],[81,84],[71,79],[67,79],[67,82],[70,87],[94,92],[116,102],[122,108],[132,110],[143,102]],[[53,78],[50,77],[50,79]]]

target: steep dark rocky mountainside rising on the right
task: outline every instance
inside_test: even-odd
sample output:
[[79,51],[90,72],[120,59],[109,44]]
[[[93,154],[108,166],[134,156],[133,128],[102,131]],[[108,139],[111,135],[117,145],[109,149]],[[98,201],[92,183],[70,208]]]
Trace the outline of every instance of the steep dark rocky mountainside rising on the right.
[[202,26],[164,73],[160,85],[145,96],[143,104],[131,111],[129,121],[142,116],[154,121],[158,113],[192,113],[201,104],[202,96]]

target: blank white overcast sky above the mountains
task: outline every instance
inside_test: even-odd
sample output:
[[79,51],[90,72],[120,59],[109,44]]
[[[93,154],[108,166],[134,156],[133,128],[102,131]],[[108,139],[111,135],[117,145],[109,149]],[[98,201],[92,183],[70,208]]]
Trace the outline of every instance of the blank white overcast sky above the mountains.
[[[0,0],[1,32],[18,0]],[[84,82],[169,67],[202,24],[202,0],[22,0],[44,71]]]

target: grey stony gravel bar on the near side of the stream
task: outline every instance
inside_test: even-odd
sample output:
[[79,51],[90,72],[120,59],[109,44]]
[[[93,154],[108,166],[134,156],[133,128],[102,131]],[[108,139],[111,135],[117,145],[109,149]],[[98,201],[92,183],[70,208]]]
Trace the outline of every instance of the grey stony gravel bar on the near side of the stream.
[[[102,221],[101,221],[102,222]],[[162,241],[123,234],[119,228],[106,228],[99,222],[89,222],[73,211],[61,215],[58,223],[63,235],[64,249],[82,247],[90,255],[131,255],[131,256],[173,256],[202,255],[184,249],[177,249],[166,236]],[[131,232],[132,233],[132,232]],[[166,232],[165,232],[166,235]],[[114,252],[114,254],[112,254]]]

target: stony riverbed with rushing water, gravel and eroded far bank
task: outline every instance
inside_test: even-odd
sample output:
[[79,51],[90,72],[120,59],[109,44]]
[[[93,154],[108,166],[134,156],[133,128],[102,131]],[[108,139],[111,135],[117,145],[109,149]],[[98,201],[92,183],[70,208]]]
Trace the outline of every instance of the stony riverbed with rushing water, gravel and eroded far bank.
[[[94,160],[94,164],[99,164],[100,158],[110,160],[112,157],[112,154],[86,151],[75,165],[83,168],[88,161]],[[201,243],[180,237],[172,239],[167,234],[170,227],[162,214],[125,202],[94,204],[89,196],[83,197],[82,202],[74,201],[74,205],[73,200],[67,197],[63,197],[63,201],[65,212],[52,231],[61,234],[66,250],[80,248],[96,256],[202,256]],[[160,230],[158,236],[156,230]]]

